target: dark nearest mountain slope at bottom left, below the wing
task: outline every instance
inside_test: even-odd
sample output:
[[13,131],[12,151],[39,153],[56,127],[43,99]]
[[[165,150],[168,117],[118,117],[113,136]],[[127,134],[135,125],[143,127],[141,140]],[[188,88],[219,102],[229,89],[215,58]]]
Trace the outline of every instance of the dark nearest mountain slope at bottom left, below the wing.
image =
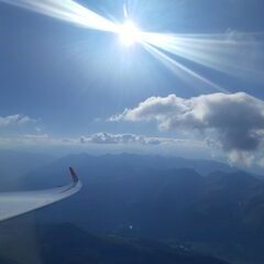
[[94,235],[70,223],[34,226],[14,220],[0,224],[0,234],[1,264],[228,264],[183,246]]

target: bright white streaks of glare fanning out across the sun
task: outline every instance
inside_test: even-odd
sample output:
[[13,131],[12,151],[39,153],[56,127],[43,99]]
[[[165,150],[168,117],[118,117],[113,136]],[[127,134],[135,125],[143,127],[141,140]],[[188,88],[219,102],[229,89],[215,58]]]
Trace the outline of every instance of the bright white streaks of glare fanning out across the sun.
[[[230,32],[220,34],[172,34],[141,31],[131,20],[128,7],[123,6],[124,23],[119,24],[81,6],[75,0],[0,0],[38,12],[58,20],[91,30],[111,32],[118,35],[125,47],[141,44],[173,72],[196,79],[212,88],[221,88],[202,77],[191,66],[184,66],[178,58],[193,65],[240,78],[263,81],[264,33]],[[240,62],[240,63],[238,63]],[[196,81],[193,81],[197,86]]]

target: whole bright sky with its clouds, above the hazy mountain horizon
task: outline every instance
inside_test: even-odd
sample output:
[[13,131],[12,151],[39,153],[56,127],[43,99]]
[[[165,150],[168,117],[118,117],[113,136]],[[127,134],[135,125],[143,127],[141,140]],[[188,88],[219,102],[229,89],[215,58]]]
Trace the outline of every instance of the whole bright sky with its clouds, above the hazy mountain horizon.
[[34,2],[0,0],[1,148],[264,164],[262,0],[59,1],[129,16],[131,46]]

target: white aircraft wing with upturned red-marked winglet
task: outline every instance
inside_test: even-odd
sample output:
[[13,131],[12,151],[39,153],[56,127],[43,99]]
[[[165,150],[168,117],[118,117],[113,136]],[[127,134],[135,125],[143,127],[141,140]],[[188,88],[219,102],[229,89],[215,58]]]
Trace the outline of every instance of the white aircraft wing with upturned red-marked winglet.
[[65,199],[81,188],[74,169],[69,167],[73,183],[45,190],[0,193],[0,221],[23,215]]

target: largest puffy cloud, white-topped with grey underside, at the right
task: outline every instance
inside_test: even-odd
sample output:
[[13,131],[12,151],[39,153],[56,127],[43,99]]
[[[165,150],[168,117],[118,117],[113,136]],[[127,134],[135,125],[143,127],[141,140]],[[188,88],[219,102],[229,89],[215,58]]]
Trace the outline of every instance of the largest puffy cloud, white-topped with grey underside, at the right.
[[151,97],[110,121],[155,121],[161,130],[198,131],[232,161],[252,160],[264,139],[264,101],[245,92],[211,94],[190,99]]

